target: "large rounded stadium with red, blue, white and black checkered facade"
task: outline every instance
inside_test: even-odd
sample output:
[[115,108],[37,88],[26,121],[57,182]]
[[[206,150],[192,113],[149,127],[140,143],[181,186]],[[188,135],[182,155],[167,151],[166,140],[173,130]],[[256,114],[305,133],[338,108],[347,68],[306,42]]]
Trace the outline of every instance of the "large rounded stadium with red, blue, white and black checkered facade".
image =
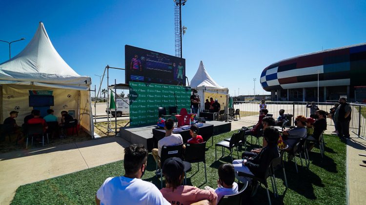
[[[318,80],[319,79],[319,80]],[[261,84],[272,101],[358,100],[366,85],[366,43],[328,49],[275,62],[264,68]]]

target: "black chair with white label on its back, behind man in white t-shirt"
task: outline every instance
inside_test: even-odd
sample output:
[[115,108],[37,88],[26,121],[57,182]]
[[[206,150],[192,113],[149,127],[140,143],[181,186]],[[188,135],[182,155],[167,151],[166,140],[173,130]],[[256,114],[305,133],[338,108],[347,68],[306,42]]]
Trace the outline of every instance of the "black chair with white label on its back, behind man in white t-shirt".
[[[168,158],[172,158],[172,157],[178,157],[178,158],[182,158],[182,149],[183,149],[183,144],[178,144],[175,146],[163,146],[162,147],[162,152],[161,152],[161,157],[160,157],[160,163],[161,163],[161,170],[160,170],[160,183],[161,183],[161,188],[163,188],[163,164],[165,162],[166,159]],[[156,159],[156,171],[158,171],[158,160],[159,158]],[[187,183],[187,177],[186,177],[186,172],[188,170],[191,169],[191,164],[188,162],[184,162],[184,184]],[[158,177],[158,175],[156,174],[156,176]]]

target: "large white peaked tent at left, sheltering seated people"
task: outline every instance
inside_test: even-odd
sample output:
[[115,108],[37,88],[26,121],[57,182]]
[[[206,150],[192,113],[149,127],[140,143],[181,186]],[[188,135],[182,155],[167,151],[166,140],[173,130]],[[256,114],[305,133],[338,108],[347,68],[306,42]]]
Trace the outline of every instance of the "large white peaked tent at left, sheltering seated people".
[[81,127],[94,136],[91,79],[77,74],[57,53],[42,22],[28,45],[14,58],[0,64],[0,122],[16,110],[18,125],[29,115],[30,91],[52,91],[55,116],[74,111]]

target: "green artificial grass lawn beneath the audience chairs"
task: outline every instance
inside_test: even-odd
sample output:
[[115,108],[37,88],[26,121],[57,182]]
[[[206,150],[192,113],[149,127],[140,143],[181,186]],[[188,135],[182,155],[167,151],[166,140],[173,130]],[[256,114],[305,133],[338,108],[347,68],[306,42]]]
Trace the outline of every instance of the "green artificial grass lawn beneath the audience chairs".
[[[232,133],[228,132],[215,136],[214,143],[230,137]],[[204,182],[203,164],[200,163],[200,171],[197,171],[197,164],[192,164],[192,171],[187,173],[188,184],[201,188],[205,185],[216,187],[217,168],[220,164],[231,161],[230,157],[225,156],[215,162],[215,146],[210,146],[210,141],[207,142],[206,151],[207,183]],[[250,147],[250,138],[248,141]],[[297,174],[293,162],[285,163],[289,186],[287,190],[285,190],[282,180],[282,172],[276,173],[277,187],[280,194],[278,199],[273,198],[268,179],[272,204],[346,204],[346,145],[338,138],[330,135],[325,136],[325,142],[325,157],[323,159],[316,147],[309,153],[311,159],[309,170],[302,168],[300,160],[298,160],[299,173]],[[221,151],[218,151],[218,157],[221,155],[219,152]],[[236,152],[234,153],[234,158],[237,158]],[[228,154],[227,150],[226,154]],[[155,177],[155,166],[153,157],[150,154],[147,170],[142,179],[159,187],[160,181]],[[17,189],[12,204],[94,204],[95,193],[103,181],[107,177],[120,175],[123,175],[122,161],[22,185]],[[267,204],[265,189],[263,187],[259,188],[252,201],[248,201],[246,204]]]

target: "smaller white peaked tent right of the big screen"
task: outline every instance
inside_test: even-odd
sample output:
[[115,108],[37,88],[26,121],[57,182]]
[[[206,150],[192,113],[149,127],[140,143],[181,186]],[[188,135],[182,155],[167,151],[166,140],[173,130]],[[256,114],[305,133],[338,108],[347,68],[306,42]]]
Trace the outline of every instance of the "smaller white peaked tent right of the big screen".
[[209,101],[210,98],[213,98],[214,100],[217,98],[218,102],[221,104],[222,110],[227,105],[229,89],[220,86],[211,78],[204,68],[202,61],[200,62],[200,66],[192,78],[190,85],[192,89],[198,91],[201,101],[201,110],[204,109],[205,100],[208,99]]

